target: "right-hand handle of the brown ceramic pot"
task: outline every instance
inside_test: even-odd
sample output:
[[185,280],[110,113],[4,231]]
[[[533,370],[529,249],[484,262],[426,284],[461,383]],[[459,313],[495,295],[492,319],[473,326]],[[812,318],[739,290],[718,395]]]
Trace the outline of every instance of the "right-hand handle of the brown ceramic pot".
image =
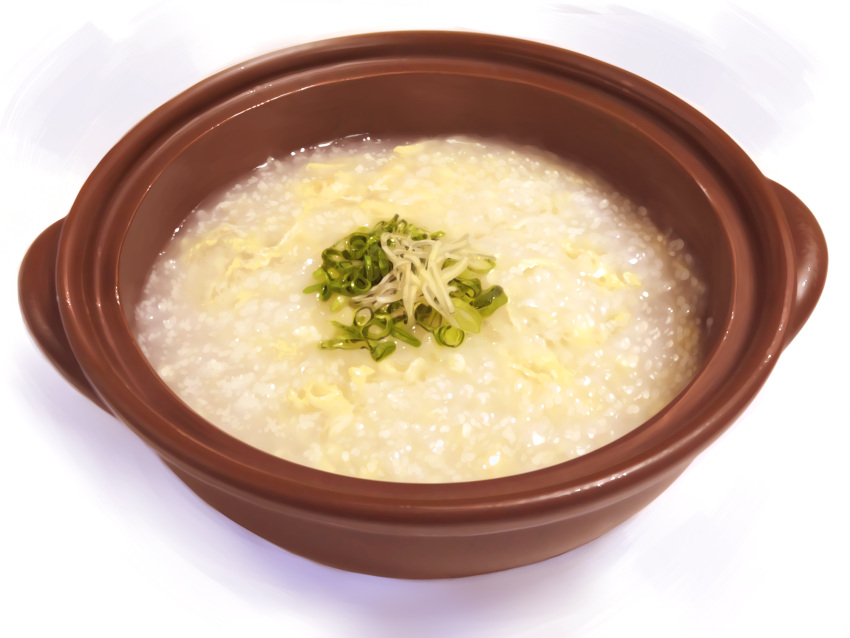
[[791,310],[788,337],[785,340],[787,347],[800,332],[820,299],[826,282],[829,259],[826,238],[812,211],[787,188],[772,180],[770,183],[791,227],[797,267],[797,297]]

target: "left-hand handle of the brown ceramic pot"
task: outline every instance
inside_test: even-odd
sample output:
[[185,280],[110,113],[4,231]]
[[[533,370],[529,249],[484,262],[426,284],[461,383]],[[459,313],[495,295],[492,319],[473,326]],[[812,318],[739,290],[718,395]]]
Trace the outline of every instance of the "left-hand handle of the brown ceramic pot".
[[18,274],[18,301],[30,334],[42,352],[77,390],[107,412],[109,409],[92,388],[74,356],[56,295],[56,254],[64,219],[49,226],[32,243]]

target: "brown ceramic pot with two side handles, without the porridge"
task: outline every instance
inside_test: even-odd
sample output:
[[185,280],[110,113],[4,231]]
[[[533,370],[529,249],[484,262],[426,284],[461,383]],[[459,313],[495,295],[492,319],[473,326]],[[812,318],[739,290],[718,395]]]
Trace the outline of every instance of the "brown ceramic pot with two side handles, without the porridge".
[[[194,206],[269,155],[356,133],[530,143],[645,204],[690,244],[710,282],[714,323],[698,376],[660,414],[592,454],[457,484],[302,467],[193,413],[130,331],[155,255]],[[382,33],[266,55],[154,111],[98,165],[68,217],[33,244],[20,300],[69,381],[216,509],[322,563],[437,578],[555,556],[652,501],[752,400],[812,311],[826,262],[806,207],[717,126],[645,80],[519,40]]]

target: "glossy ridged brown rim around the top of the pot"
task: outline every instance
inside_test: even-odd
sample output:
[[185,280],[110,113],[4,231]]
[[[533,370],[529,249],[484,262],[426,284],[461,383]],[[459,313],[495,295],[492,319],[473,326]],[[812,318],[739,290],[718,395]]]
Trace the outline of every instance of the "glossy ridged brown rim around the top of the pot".
[[[109,281],[117,281],[117,263],[106,264],[110,268],[104,269],[104,264],[98,262],[100,251],[96,239],[102,239],[103,231],[93,233],[90,225],[97,221],[101,211],[120,199],[128,171],[137,169],[139,159],[151,148],[167,144],[209,105],[221,103],[229,96],[283,76],[340,67],[346,62],[401,56],[487,62],[496,59],[543,74],[566,75],[627,99],[634,108],[660,118],[688,144],[698,148],[707,161],[715,164],[713,170],[728,176],[728,170],[720,166],[718,158],[734,165],[738,172],[736,180],[747,184],[749,197],[760,207],[779,209],[766,178],[744,151],[707,117],[647,80],[575,52],[489,34],[394,31],[332,38],[267,53],[210,76],[153,111],[98,164],[71,209],[57,258],[60,311],[71,348],[98,394],[116,416],[169,463],[207,482],[227,486],[245,498],[261,500],[268,507],[292,508],[304,516],[415,523],[429,529],[438,523],[486,525],[506,517],[517,524],[521,521],[528,524],[556,511],[563,515],[565,510],[578,514],[588,508],[595,509],[657,482],[666,470],[683,469],[752,400],[785,342],[795,275],[790,258],[793,255],[790,228],[781,215],[772,215],[770,220],[775,222],[771,232],[778,242],[777,258],[785,266],[784,272],[776,275],[784,276],[785,294],[773,308],[770,323],[775,329],[759,332],[745,348],[746,352],[757,352],[760,361],[748,366],[746,375],[731,377],[736,382],[734,388],[730,388],[729,380],[724,380],[726,400],[722,406],[702,405],[691,415],[692,422],[679,423],[675,428],[670,424],[656,427],[657,440],[652,444],[647,432],[663,420],[667,408],[624,437],[585,457],[559,465],[464,483],[396,483],[331,474],[278,459],[233,439],[212,424],[207,425],[226,440],[210,433],[211,440],[220,442],[221,447],[200,444],[169,420],[174,406],[154,407],[140,402],[130,387],[132,384],[126,380],[121,347],[116,347],[126,346],[126,339],[116,340],[107,329],[110,322],[114,325],[116,313],[121,312],[117,290],[111,297],[103,293],[109,290]],[[93,275],[91,281],[85,279],[85,272]],[[129,333],[128,326],[124,329]],[[726,334],[723,339],[728,337]],[[164,382],[151,374],[166,388]],[[699,377],[692,381],[680,397],[693,392],[695,387],[699,389],[698,380]],[[168,393],[171,394],[170,390]],[[662,429],[665,436],[659,437]],[[636,439],[643,447],[635,444]],[[588,465],[597,469],[583,474]]]

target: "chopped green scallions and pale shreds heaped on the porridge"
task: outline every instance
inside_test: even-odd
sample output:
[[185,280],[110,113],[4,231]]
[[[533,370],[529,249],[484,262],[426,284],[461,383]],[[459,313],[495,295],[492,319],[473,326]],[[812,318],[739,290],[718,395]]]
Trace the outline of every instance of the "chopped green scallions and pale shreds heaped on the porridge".
[[457,348],[508,301],[501,286],[482,291],[479,276],[495,265],[493,257],[470,250],[466,238],[447,241],[444,232],[431,233],[398,215],[358,228],[322,251],[313,273],[317,283],[304,289],[332,300],[333,311],[354,308],[351,325],[332,321],[337,334],[319,347],[365,348],[380,361],[395,351],[393,339],[422,345],[412,332],[419,326],[439,345]]

